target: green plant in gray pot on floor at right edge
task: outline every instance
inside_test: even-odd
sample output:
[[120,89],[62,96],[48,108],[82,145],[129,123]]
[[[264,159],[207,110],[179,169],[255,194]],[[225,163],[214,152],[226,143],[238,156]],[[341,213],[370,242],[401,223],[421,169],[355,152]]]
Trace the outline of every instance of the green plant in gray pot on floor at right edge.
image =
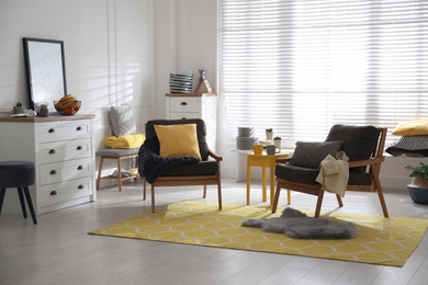
[[407,185],[410,198],[418,204],[428,204],[428,164],[420,162],[417,167],[404,168],[410,170],[412,182]]

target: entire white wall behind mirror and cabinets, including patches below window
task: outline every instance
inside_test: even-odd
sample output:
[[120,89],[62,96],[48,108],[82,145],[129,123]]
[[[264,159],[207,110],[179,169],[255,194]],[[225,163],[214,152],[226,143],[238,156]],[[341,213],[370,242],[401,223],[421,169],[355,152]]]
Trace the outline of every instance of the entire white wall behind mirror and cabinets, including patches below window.
[[[22,37],[63,39],[68,91],[82,100],[79,112],[97,115],[97,148],[110,132],[111,105],[132,104],[143,130],[147,119],[165,117],[169,72],[192,70],[198,78],[198,69],[207,69],[216,91],[216,0],[0,0],[0,113],[29,103]],[[235,178],[236,153],[217,151],[223,175]],[[403,166],[419,161],[388,158],[384,185],[404,187]]]

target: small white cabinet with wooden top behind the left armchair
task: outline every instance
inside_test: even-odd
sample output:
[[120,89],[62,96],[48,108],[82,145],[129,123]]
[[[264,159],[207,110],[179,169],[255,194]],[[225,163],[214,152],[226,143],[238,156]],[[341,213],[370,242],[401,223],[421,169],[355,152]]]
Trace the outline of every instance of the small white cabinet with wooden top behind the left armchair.
[[206,125],[206,141],[216,150],[217,96],[215,93],[167,93],[167,118],[202,118]]

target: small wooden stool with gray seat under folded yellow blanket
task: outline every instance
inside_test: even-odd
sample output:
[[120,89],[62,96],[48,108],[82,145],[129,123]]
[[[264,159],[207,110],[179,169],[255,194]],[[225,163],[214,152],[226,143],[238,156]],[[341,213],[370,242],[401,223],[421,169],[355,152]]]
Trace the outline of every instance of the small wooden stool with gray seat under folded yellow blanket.
[[[139,148],[131,148],[131,149],[116,149],[116,148],[104,148],[97,151],[97,156],[100,156],[100,169],[98,171],[97,179],[97,190],[100,189],[100,182],[102,179],[114,179],[117,180],[119,191],[122,191],[122,181],[124,180],[136,180],[137,175],[131,175],[127,178],[122,176],[122,159],[135,159],[135,168],[138,164],[138,151]],[[101,176],[102,164],[104,163],[104,159],[115,159],[117,161],[117,176]]]

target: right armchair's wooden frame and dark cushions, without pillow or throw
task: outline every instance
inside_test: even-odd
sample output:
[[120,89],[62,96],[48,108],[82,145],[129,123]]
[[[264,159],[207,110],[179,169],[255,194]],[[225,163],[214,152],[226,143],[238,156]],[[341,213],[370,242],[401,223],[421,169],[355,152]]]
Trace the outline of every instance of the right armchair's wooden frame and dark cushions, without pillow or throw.
[[[363,136],[359,139],[359,136]],[[371,136],[371,138],[370,138]],[[371,140],[373,144],[368,142]],[[342,149],[349,157],[349,181],[347,190],[378,192],[385,217],[388,217],[385,200],[383,196],[379,173],[381,163],[385,160],[383,155],[386,139],[386,128],[373,126],[346,126],[335,125],[331,127],[326,141],[342,140]],[[360,153],[363,149],[369,150],[369,156]],[[371,150],[370,150],[371,149]],[[359,158],[359,159],[354,159]],[[305,169],[292,166],[292,159],[279,159],[281,164],[275,167],[277,190],[272,205],[272,213],[277,212],[281,189],[288,190],[288,204],[291,203],[290,191],[297,191],[317,196],[315,217],[319,217],[325,191],[322,184],[315,181],[319,169]],[[286,163],[286,164],[285,164]],[[340,195],[336,194],[340,207],[343,206]]]

